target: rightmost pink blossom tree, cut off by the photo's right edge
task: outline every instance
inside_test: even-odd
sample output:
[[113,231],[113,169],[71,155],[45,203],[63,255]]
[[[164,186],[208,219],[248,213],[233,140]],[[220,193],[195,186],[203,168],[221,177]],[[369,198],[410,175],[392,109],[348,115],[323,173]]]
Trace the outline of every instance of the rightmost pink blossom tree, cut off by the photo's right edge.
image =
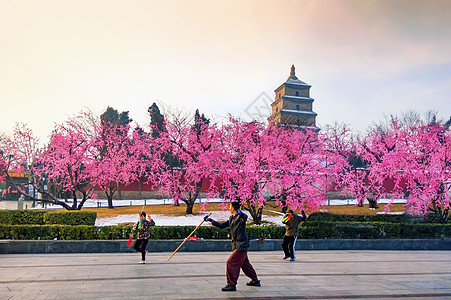
[[400,128],[396,151],[385,167],[407,181],[407,210],[425,216],[432,212],[445,222],[451,195],[451,133],[437,122]]

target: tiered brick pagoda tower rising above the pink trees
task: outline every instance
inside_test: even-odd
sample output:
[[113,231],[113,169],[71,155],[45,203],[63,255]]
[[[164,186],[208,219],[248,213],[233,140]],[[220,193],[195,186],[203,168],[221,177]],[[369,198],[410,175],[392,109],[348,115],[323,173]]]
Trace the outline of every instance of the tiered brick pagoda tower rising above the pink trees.
[[313,111],[313,99],[310,98],[311,86],[296,77],[294,65],[290,76],[274,92],[275,100],[271,104],[271,119],[276,126],[292,126],[317,130],[316,116]]

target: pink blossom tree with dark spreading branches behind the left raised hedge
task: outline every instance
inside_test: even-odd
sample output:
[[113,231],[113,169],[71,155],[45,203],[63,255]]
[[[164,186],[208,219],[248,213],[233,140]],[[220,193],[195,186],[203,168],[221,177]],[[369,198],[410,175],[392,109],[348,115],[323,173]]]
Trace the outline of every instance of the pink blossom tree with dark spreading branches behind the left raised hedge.
[[[50,198],[40,201],[80,210],[86,200],[96,198],[90,173],[96,155],[93,137],[98,135],[94,119],[91,113],[82,113],[55,127],[49,145],[32,167],[36,179],[46,179],[56,188],[53,193],[39,189]],[[72,205],[57,198],[61,193],[70,194]]]

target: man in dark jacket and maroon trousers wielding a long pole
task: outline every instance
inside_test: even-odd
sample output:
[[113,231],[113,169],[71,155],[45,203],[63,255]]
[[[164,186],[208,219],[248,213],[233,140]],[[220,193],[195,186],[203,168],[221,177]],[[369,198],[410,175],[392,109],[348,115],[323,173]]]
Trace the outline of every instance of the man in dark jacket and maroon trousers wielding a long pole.
[[257,273],[247,257],[247,250],[249,249],[249,239],[247,238],[246,233],[247,215],[241,211],[239,202],[232,202],[229,206],[229,210],[232,215],[229,220],[223,223],[216,222],[208,216],[205,216],[204,218],[205,221],[211,222],[213,226],[219,228],[230,227],[233,252],[227,260],[227,285],[222,288],[222,291],[236,291],[240,268],[243,270],[244,274],[251,279],[247,285],[261,286],[260,280],[257,278]]

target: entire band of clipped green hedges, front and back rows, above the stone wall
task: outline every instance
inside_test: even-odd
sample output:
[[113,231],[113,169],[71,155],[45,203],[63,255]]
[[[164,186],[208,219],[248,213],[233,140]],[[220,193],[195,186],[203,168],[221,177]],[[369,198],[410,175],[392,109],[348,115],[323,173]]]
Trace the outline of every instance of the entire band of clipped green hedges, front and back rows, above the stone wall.
[[[0,239],[128,239],[131,225],[95,227],[97,214],[81,211],[0,210]],[[302,239],[451,238],[451,224],[431,223],[402,215],[333,215],[314,213],[299,229]],[[184,239],[194,226],[154,226],[152,239]],[[249,238],[281,239],[284,226],[249,226]],[[228,228],[201,226],[194,234],[203,239],[228,239]]]

